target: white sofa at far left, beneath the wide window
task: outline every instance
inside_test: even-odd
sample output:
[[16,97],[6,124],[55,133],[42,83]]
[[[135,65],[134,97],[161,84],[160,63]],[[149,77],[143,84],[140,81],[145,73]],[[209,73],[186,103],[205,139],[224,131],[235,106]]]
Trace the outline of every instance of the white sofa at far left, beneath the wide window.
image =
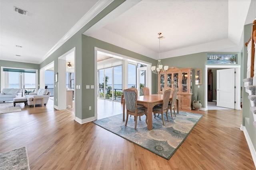
[[22,97],[22,89],[3,89],[0,93],[0,101],[13,101],[16,97]]

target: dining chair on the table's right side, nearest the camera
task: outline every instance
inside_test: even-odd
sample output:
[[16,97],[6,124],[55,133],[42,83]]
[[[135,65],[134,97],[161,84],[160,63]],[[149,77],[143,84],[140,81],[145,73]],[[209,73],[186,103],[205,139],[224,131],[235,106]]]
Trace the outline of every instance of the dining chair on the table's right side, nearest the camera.
[[[152,109],[155,118],[156,118],[156,113],[159,113],[159,114],[162,115],[163,124],[164,124],[164,113],[166,113],[167,121],[169,122],[169,119],[168,119],[168,104],[169,104],[169,101],[170,101],[170,94],[171,94],[171,89],[165,89],[164,92],[163,92],[162,106],[156,105]],[[158,114],[158,116],[159,116],[159,114]]]

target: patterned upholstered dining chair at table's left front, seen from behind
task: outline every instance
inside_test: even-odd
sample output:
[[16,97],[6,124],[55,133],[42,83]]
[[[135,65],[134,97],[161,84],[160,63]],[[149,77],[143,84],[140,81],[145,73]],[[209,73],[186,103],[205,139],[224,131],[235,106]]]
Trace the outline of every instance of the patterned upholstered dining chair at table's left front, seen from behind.
[[[146,109],[142,107],[138,107],[137,99],[138,99],[138,92],[134,89],[125,89],[124,90],[124,100],[126,106],[126,122],[125,126],[127,125],[128,115],[133,115],[135,117],[135,129],[137,127],[137,118],[138,116],[146,115]],[[147,116],[147,115],[146,115]]]

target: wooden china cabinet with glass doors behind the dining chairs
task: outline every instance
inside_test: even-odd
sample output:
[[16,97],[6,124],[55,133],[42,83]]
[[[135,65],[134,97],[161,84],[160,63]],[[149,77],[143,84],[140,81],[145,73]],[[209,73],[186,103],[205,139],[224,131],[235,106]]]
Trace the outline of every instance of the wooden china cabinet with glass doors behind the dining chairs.
[[178,88],[179,109],[192,110],[192,68],[170,67],[165,73],[158,75],[158,93],[164,87]]

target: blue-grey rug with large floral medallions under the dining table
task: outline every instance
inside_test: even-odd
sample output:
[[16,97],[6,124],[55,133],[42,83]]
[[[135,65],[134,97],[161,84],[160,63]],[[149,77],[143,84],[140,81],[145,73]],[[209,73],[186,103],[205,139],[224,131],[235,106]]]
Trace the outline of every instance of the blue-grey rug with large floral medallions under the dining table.
[[127,126],[125,126],[125,121],[122,121],[122,114],[100,119],[93,123],[162,158],[170,160],[191,130],[202,118],[202,115],[179,111],[179,114],[176,114],[173,120],[170,113],[168,117],[170,122],[167,121],[166,115],[164,114],[164,126],[161,115],[156,117],[156,119],[153,116],[152,130],[147,129],[145,115],[141,117],[141,121],[138,119],[136,129],[134,129],[134,117],[129,116]]

